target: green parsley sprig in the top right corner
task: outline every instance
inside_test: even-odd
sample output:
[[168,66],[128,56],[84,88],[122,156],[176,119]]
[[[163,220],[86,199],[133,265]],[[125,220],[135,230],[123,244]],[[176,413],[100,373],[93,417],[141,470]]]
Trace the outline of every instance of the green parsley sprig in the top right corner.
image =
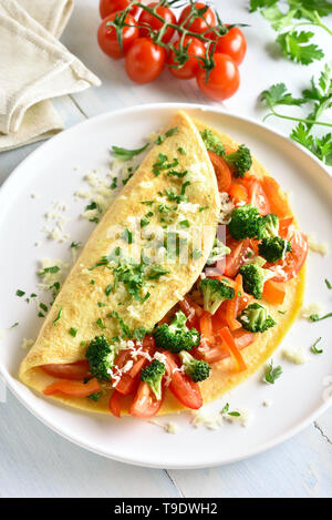
[[276,39],[283,54],[290,60],[308,65],[321,60],[324,52],[312,42],[314,33],[302,28],[317,27],[330,35],[331,29],[322,18],[332,13],[326,0],[250,0],[250,11],[257,11],[278,32]]

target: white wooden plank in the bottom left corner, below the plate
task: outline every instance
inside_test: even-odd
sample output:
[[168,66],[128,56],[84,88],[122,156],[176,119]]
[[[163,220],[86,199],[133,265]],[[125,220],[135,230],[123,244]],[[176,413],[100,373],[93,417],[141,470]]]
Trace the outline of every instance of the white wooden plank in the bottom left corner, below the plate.
[[0,424],[2,498],[179,496],[165,471],[83,450],[42,425],[9,391]]

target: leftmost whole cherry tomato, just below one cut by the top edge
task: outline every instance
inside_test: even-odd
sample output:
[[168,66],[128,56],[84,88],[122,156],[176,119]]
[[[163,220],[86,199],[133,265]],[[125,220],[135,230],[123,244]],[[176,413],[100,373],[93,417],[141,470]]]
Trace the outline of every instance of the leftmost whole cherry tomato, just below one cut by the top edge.
[[135,18],[131,14],[127,14],[125,18],[125,22],[133,27],[124,27],[122,30],[122,45],[123,49],[121,50],[116,30],[114,27],[108,27],[106,23],[112,22],[115,19],[116,13],[110,14],[110,17],[105,18],[102,23],[100,24],[98,32],[97,32],[97,40],[100,48],[102,49],[105,54],[110,55],[111,58],[117,60],[118,58],[123,58],[123,55],[128,51],[132,43],[138,38],[139,31],[137,29],[137,22]]

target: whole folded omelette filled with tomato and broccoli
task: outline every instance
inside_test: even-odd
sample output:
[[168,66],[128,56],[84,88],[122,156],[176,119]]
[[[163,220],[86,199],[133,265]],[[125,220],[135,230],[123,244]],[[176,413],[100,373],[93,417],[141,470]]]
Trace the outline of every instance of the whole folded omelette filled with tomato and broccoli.
[[277,348],[307,253],[248,147],[180,111],[92,233],[20,378],[115,417],[198,409]]

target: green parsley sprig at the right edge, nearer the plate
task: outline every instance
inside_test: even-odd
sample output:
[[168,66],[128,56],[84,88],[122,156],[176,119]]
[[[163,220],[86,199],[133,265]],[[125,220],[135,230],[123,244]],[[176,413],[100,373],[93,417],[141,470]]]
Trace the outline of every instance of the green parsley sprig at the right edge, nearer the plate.
[[[311,78],[309,88],[302,90],[302,96],[295,98],[284,83],[277,83],[261,94],[262,103],[270,110],[264,120],[271,115],[298,124],[293,128],[290,137],[307,147],[318,159],[329,166],[332,165],[332,133],[322,136],[314,135],[312,129],[315,125],[332,128],[332,122],[321,121],[321,116],[332,106],[332,67],[325,64],[318,81]],[[276,106],[302,106],[310,105],[310,113],[304,118],[288,115],[276,110]]]

